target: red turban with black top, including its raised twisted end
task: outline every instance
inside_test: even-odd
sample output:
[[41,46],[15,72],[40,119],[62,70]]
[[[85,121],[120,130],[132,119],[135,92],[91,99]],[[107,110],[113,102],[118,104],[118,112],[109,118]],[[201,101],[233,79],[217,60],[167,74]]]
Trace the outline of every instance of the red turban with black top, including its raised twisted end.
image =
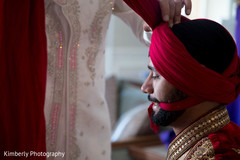
[[[207,20],[168,26],[157,0],[124,0],[153,29],[150,59],[172,85],[188,94],[184,100],[160,103],[167,111],[187,109],[203,101],[228,104],[240,93],[240,59],[228,31]],[[152,108],[150,107],[150,112]]]

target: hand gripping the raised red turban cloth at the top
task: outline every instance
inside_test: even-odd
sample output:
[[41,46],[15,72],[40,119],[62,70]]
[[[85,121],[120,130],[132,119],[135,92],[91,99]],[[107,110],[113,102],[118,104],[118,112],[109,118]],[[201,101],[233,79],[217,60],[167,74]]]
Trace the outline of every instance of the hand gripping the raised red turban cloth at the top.
[[[189,15],[192,10],[191,0],[158,0],[162,12],[162,19],[168,22],[172,27],[174,24],[181,22],[181,10],[185,6],[185,13]],[[151,31],[151,28],[144,23],[143,28],[146,32]]]

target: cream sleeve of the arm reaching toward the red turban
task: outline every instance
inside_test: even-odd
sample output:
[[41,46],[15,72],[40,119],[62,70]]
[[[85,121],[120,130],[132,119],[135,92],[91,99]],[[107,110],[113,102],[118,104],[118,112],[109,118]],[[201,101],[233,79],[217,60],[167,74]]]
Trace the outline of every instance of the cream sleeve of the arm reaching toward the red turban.
[[115,0],[113,13],[132,29],[134,35],[141,42],[148,44],[143,39],[143,19],[128,7],[123,0]]

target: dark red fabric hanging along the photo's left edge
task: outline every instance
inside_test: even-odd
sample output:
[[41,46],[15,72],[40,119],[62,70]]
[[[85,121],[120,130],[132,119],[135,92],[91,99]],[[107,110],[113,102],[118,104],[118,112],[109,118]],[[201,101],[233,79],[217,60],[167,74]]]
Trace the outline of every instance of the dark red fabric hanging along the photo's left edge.
[[44,0],[0,1],[0,159],[26,159],[4,151],[46,151],[44,16]]

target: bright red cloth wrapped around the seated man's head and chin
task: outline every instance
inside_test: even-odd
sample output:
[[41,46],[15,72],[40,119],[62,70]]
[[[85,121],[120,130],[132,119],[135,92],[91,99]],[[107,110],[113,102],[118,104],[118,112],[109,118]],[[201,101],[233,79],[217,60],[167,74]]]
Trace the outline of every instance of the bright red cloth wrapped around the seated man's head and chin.
[[185,109],[201,100],[228,104],[240,93],[240,59],[237,51],[230,66],[220,75],[199,64],[168,24],[161,23],[153,31],[149,52],[156,70],[169,83],[190,96],[181,102],[160,104],[165,110]]

